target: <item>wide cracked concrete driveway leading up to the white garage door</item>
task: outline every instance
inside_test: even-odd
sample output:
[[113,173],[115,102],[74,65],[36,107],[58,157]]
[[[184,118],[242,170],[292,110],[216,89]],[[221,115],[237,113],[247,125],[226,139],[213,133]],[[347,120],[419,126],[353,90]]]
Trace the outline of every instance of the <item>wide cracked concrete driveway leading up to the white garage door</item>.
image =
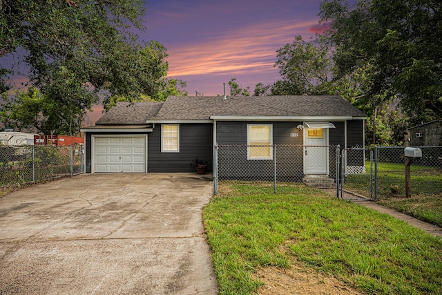
[[197,174],[96,173],[0,198],[0,294],[218,294],[211,191]]

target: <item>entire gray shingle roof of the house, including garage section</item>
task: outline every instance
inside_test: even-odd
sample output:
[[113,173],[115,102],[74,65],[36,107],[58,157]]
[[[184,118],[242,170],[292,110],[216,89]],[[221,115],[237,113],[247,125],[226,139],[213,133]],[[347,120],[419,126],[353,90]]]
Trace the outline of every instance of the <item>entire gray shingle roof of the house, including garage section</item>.
[[256,97],[171,96],[166,102],[119,102],[97,125],[145,124],[160,120],[209,120],[211,116],[241,117],[367,117],[337,95]]

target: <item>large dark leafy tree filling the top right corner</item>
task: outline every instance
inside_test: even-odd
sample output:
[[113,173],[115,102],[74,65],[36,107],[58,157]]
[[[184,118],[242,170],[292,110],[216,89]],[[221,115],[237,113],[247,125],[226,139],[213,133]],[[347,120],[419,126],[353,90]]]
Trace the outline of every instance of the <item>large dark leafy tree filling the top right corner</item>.
[[370,95],[397,95],[412,124],[442,117],[441,1],[325,0],[320,17],[339,75],[370,64]]

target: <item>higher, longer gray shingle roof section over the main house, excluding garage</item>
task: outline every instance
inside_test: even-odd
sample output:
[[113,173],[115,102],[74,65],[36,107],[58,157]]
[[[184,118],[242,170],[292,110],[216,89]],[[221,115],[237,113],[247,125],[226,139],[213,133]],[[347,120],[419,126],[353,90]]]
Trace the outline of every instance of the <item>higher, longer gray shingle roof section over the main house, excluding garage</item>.
[[151,120],[209,120],[219,116],[352,116],[366,117],[337,95],[287,95],[256,97],[168,97]]

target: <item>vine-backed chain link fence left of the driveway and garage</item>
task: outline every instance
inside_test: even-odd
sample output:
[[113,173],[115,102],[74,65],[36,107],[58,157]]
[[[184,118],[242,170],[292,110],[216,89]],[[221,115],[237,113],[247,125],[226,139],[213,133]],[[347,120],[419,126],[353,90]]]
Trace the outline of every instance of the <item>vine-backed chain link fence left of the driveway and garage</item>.
[[84,145],[0,146],[0,185],[84,173]]

